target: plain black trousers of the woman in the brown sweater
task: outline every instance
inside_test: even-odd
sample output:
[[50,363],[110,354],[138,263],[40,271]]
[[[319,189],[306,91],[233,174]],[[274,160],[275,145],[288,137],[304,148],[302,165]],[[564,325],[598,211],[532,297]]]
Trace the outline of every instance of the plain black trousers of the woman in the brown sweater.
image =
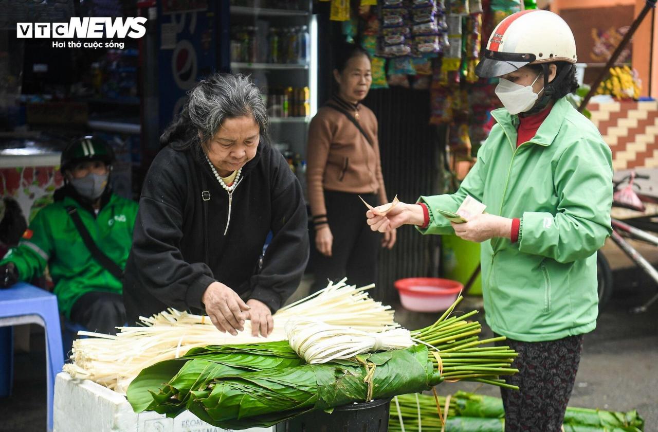
[[[368,204],[379,205],[376,194],[361,194]],[[315,282],[311,292],[326,287],[328,281],[338,282],[347,277],[347,283],[365,286],[375,283],[377,256],[382,234],[370,230],[366,223],[368,209],[359,200],[358,194],[347,192],[324,192],[329,228],[334,236],[332,256],[318,252],[315,232],[312,239]]]

